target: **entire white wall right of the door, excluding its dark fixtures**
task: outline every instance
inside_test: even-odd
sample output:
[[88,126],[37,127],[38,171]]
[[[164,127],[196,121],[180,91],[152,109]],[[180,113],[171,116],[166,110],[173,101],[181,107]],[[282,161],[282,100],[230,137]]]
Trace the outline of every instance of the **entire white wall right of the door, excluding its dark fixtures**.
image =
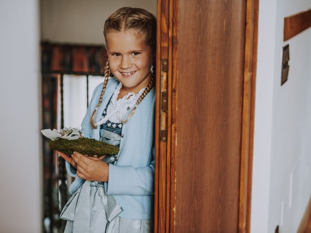
[[[294,233],[311,198],[311,29],[283,42],[283,18],[309,0],[259,0],[251,232]],[[290,46],[280,86],[282,47]]]

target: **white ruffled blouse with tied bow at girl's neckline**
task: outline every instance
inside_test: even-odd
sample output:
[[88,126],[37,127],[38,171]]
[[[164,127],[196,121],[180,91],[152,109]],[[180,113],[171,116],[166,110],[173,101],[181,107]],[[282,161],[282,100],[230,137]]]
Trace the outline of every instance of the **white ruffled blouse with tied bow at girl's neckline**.
[[141,88],[137,94],[129,92],[127,95],[123,96],[122,99],[117,100],[121,87],[122,83],[120,82],[111,97],[110,103],[107,107],[106,116],[100,120],[98,125],[105,123],[107,120],[112,122],[121,122],[121,120],[125,120],[123,119],[123,116],[126,114],[128,109],[132,108],[136,104],[139,96],[146,88]]

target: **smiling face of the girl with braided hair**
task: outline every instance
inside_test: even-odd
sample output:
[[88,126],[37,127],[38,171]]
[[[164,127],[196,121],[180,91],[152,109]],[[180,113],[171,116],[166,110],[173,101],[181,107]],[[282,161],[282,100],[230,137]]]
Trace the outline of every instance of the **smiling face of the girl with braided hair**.
[[110,70],[122,83],[124,91],[138,93],[152,77],[152,50],[144,39],[143,34],[133,29],[106,35]]

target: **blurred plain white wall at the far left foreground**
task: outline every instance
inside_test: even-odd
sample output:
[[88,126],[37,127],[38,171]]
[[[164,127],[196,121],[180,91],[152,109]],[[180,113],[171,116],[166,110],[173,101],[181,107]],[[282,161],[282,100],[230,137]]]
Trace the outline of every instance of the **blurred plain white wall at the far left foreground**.
[[42,229],[38,2],[1,0],[0,232]]

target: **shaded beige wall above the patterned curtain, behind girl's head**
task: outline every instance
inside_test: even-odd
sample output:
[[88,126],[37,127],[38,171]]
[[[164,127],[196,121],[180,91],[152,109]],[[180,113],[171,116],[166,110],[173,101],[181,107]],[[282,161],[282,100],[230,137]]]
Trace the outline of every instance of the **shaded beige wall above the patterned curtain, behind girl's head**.
[[41,0],[41,39],[104,44],[104,21],[123,6],[156,15],[156,0]]

